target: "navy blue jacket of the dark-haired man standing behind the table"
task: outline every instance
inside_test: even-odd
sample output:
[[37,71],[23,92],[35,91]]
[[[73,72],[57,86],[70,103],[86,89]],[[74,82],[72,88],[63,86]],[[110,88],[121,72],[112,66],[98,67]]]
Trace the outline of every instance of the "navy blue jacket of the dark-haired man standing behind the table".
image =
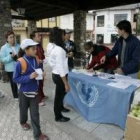
[[[123,73],[128,75],[139,71],[140,41],[133,35],[129,35],[125,41],[124,66],[121,68]],[[121,66],[122,42],[123,38],[120,37],[113,49],[106,54],[107,58],[118,55],[118,66]]]

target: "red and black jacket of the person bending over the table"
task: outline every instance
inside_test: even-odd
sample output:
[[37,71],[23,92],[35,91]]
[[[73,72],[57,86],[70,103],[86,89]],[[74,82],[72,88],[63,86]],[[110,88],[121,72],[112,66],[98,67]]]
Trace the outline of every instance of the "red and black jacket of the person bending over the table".
[[98,70],[100,68],[104,68],[106,70],[108,69],[115,69],[117,68],[117,59],[116,57],[112,57],[110,59],[106,59],[105,64],[101,64],[100,60],[103,56],[106,55],[107,52],[109,52],[110,49],[108,47],[98,45],[97,48],[94,48],[94,52],[92,53],[92,61],[88,65],[89,69],[93,68],[94,70]]

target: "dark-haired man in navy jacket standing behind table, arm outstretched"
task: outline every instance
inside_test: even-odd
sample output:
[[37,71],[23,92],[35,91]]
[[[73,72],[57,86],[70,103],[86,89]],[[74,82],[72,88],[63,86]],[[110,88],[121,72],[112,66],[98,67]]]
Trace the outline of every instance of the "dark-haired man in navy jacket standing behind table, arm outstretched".
[[103,56],[100,61],[105,63],[106,58],[118,55],[118,68],[115,73],[136,79],[139,71],[140,41],[132,35],[129,21],[120,21],[116,27],[120,37],[113,49]]

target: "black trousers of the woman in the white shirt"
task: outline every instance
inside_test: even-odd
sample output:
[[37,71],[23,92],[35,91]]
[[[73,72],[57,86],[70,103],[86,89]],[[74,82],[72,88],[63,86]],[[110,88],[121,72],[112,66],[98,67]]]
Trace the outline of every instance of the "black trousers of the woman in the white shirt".
[[53,82],[56,85],[55,89],[55,99],[54,99],[54,114],[55,119],[60,119],[62,117],[63,99],[66,95],[64,83],[60,75],[52,74]]

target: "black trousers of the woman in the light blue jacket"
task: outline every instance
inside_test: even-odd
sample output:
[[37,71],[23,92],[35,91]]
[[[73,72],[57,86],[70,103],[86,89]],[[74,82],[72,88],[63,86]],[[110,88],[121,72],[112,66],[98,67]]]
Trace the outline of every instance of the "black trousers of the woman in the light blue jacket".
[[7,75],[8,75],[9,80],[10,80],[13,97],[18,98],[17,84],[13,82],[13,72],[7,72]]

